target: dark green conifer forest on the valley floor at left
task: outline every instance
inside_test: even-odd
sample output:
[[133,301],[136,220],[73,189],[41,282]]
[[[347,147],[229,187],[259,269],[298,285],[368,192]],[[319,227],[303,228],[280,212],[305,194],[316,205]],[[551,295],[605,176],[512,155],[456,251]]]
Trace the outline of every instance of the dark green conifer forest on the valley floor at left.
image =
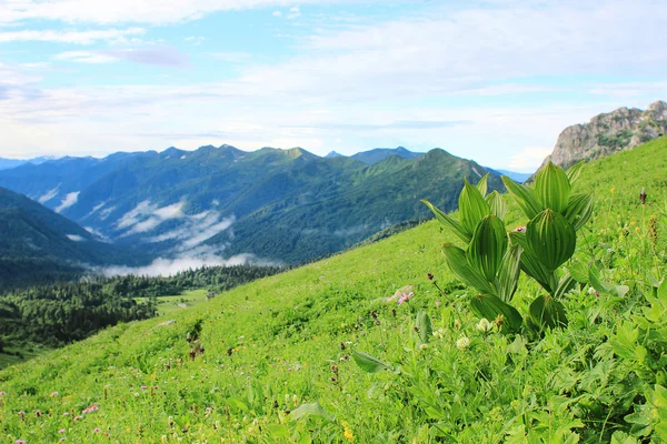
[[0,340],[60,346],[119,322],[155,316],[158,296],[201,287],[220,292],[282,270],[213,266],[169,278],[86,278],[80,282],[14,289],[0,295]]

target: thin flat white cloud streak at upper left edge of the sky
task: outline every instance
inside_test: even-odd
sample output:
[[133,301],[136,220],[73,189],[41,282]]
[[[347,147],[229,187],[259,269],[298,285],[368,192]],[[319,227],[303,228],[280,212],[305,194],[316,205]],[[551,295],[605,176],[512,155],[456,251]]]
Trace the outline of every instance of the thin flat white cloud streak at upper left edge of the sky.
[[[0,17],[2,7],[0,6]],[[1,19],[0,19],[1,21]],[[89,31],[21,30],[0,32],[0,43],[43,41],[71,44],[92,44],[98,41],[119,41],[128,36],[146,33],[142,28],[107,29]]]

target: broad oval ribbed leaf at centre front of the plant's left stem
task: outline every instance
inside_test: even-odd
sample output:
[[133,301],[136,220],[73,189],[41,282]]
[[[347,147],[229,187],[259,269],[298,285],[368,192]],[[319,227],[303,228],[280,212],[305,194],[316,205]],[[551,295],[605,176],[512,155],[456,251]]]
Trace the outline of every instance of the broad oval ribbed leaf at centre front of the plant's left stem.
[[477,269],[487,281],[492,281],[507,250],[505,224],[495,215],[485,216],[475,229],[468,245],[468,263]]

